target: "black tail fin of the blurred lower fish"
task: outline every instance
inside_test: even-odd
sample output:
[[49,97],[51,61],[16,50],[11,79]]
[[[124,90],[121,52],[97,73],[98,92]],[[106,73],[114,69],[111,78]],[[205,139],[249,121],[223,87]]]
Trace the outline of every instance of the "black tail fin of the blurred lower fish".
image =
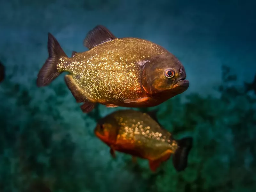
[[188,154],[193,146],[193,138],[186,137],[181,140],[177,140],[178,148],[172,156],[172,163],[177,171],[183,171],[188,164]]

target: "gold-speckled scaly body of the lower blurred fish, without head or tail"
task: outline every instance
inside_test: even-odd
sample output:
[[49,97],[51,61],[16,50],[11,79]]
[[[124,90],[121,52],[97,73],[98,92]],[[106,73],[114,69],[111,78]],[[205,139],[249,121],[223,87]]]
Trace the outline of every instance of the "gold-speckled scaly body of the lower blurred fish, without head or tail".
[[[120,115],[127,118],[124,120]],[[148,114],[138,112],[134,118],[131,111],[127,110],[120,115],[115,114],[119,125],[116,148],[127,146],[126,149],[129,149],[133,146],[140,157],[147,159],[158,159],[166,150],[174,151],[177,148],[176,141],[171,139],[171,133],[162,129],[156,122],[152,122]]]

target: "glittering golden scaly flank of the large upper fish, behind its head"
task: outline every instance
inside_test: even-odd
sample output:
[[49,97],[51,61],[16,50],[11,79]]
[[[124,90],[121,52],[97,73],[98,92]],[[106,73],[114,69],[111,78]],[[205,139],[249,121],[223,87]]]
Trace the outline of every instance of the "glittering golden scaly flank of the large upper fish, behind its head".
[[90,100],[118,103],[145,96],[141,91],[139,61],[165,52],[159,45],[143,39],[114,39],[87,52],[77,53],[75,57],[60,60],[57,69],[73,74],[76,84]]

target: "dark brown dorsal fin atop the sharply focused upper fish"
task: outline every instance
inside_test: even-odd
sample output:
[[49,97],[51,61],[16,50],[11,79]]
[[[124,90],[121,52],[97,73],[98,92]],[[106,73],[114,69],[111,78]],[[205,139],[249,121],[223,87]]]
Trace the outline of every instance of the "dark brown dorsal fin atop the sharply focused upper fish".
[[84,46],[88,49],[92,49],[99,44],[111,41],[113,39],[116,39],[116,36],[114,36],[107,28],[102,25],[97,25],[88,32],[84,39]]

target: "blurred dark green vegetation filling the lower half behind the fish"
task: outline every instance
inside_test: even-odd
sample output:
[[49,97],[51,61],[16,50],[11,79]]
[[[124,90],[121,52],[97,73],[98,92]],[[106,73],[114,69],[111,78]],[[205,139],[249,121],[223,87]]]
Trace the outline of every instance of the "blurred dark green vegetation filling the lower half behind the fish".
[[154,108],[159,122],[175,138],[194,138],[188,168],[180,173],[171,159],[152,173],[145,160],[133,164],[121,153],[111,158],[93,129],[98,118],[120,108],[98,106],[86,115],[64,82],[38,89],[13,84],[9,78],[0,84],[0,191],[26,191],[38,180],[53,192],[256,188],[256,99],[237,86],[227,67],[217,90],[219,98],[191,94],[183,103],[176,96]]

